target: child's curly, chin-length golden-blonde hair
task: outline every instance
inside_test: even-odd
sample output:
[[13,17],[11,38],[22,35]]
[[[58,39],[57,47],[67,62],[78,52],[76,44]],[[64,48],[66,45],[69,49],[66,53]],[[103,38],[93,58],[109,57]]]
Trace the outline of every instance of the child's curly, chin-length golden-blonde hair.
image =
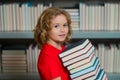
[[37,25],[34,29],[34,39],[38,43],[39,47],[41,48],[43,44],[45,44],[48,40],[47,33],[50,28],[50,22],[53,17],[56,17],[57,15],[63,14],[66,16],[67,23],[68,23],[68,35],[65,39],[65,42],[69,42],[71,38],[71,18],[68,12],[66,12],[64,9],[58,8],[58,7],[49,7],[46,10],[42,12],[40,15]]

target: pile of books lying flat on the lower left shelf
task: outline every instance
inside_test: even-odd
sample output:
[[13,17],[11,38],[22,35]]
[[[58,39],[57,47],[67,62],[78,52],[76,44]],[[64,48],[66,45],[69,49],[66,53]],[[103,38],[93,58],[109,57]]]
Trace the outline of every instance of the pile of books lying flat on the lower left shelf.
[[26,47],[4,46],[2,49],[2,72],[27,72]]

